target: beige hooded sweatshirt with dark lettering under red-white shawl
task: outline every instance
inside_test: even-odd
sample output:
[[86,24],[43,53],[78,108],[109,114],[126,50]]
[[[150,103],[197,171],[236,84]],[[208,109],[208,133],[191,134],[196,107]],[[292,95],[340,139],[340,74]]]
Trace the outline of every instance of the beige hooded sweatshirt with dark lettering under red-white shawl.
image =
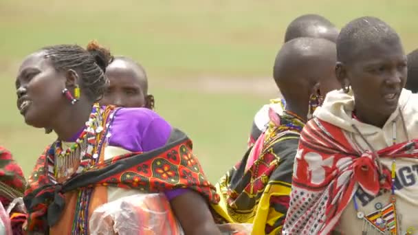
[[[406,142],[409,139],[418,138],[418,95],[412,94],[404,89],[399,98],[398,109],[388,118],[383,128],[378,128],[370,124],[364,124],[352,118],[354,108],[354,98],[351,93],[344,93],[342,90],[331,91],[327,94],[324,104],[317,109],[314,115],[320,120],[329,122],[339,126],[351,141],[355,148],[361,150],[369,149],[366,142],[362,140],[360,135],[354,130],[352,124],[358,127],[367,142],[380,150],[393,144],[393,123],[395,122],[395,137],[397,143]],[[402,115],[404,117],[407,133],[404,131]],[[382,159],[382,164],[391,169],[392,159]],[[409,230],[410,234],[418,234],[418,159],[396,159],[396,181],[395,194],[397,198],[397,218],[400,226],[398,234],[406,234]],[[364,214],[375,212],[382,206],[389,203],[390,193],[378,194],[373,197],[365,194],[362,190],[356,192],[356,202],[358,211]],[[373,226],[364,223],[362,219],[358,219],[358,212],[355,210],[353,199],[344,210],[340,219],[340,225],[337,231],[342,234],[380,234]]]

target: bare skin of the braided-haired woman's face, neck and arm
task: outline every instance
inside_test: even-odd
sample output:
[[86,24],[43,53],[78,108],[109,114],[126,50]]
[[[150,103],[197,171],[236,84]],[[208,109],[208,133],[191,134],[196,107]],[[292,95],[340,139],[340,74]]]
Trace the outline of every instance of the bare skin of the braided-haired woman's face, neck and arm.
[[[27,101],[21,110],[25,122],[36,128],[52,128],[58,139],[74,136],[89,119],[94,98],[80,89],[80,100],[73,105],[62,90],[74,91],[80,81],[74,70],[56,71],[45,52],[25,58],[16,80],[18,109]],[[220,234],[206,200],[197,192],[181,194],[170,205],[186,234]]]

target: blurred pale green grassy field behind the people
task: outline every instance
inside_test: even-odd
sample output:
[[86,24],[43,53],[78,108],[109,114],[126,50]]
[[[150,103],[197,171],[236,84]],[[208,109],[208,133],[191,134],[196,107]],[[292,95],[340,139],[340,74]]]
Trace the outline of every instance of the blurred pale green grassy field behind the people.
[[17,67],[39,47],[95,38],[144,65],[157,112],[194,139],[216,181],[244,153],[254,112],[277,96],[272,63],[292,19],[318,13],[342,26],[378,16],[409,52],[417,47],[417,7],[412,0],[0,0],[0,144],[30,172],[54,135],[23,124]]

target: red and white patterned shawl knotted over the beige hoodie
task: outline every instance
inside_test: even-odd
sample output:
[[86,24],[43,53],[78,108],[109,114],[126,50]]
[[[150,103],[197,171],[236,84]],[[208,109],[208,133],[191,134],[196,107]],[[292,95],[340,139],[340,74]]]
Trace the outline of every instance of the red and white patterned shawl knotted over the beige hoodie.
[[[418,139],[377,155],[418,157]],[[330,234],[358,187],[371,195],[391,188],[391,174],[378,173],[375,154],[359,153],[340,128],[316,118],[301,133],[294,165],[283,234]]]

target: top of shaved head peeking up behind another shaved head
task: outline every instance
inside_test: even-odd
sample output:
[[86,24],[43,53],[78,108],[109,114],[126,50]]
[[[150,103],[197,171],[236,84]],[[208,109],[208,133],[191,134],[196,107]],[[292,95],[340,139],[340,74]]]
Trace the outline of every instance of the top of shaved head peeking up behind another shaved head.
[[337,41],[336,25],[318,14],[304,14],[294,19],[287,26],[285,43],[294,38],[325,38],[334,43]]

